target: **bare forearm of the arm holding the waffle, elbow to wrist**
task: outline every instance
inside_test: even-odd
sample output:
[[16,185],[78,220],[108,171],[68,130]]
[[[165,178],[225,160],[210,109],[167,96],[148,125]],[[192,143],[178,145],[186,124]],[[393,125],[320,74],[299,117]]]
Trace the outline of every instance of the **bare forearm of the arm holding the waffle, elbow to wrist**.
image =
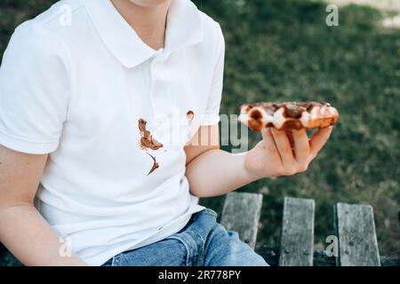
[[220,149],[199,155],[187,165],[190,192],[198,197],[218,196],[256,180],[244,170],[244,157]]

